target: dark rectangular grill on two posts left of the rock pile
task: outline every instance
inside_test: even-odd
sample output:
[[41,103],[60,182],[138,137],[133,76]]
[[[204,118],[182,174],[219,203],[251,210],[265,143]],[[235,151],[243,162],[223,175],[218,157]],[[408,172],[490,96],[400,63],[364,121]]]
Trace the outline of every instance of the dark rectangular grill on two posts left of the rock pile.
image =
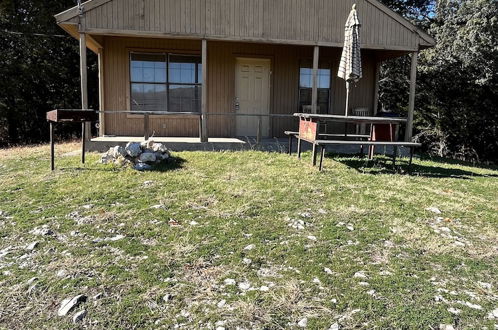
[[81,123],[81,163],[85,163],[85,123],[97,120],[94,110],[52,110],[47,112],[47,120],[50,123],[50,169],[55,169],[54,162],[54,126],[56,123]]

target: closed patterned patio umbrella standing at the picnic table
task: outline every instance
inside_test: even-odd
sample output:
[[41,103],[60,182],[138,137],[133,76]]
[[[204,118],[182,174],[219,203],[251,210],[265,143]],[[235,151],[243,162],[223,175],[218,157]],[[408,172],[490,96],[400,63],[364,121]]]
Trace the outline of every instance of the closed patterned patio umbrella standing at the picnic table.
[[356,12],[356,4],[349,13],[344,32],[344,48],[338,76],[346,80],[346,116],[349,111],[349,92],[351,83],[358,82],[362,77],[360,50],[360,20]]

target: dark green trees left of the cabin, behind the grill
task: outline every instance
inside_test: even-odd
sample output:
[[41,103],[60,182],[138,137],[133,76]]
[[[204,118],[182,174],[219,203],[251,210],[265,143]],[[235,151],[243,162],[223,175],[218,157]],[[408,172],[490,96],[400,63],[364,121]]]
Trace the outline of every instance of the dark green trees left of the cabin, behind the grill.
[[[53,17],[73,5],[72,0],[1,0],[0,146],[47,140],[45,113],[80,106],[78,42]],[[92,56],[89,69],[89,81],[94,82],[90,101],[95,103]],[[57,129],[67,137],[79,127]]]

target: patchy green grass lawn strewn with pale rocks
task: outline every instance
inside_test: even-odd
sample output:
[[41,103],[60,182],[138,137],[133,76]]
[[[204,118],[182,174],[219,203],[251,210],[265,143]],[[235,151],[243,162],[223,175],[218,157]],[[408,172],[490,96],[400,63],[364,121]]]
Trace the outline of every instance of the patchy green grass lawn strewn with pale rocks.
[[0,328],[497,328],[496,169],[251,151],[140,173],[77,149],[54,173],[48,146],[0,150]]

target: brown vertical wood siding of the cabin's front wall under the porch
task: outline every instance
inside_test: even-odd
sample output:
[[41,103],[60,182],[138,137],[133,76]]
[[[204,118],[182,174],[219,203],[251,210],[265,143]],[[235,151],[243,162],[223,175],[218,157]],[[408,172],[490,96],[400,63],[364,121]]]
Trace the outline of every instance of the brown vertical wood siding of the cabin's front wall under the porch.
[[[193,0],[192,0],[193,1]],[[214,1],[214,0],[213,0]],[[241,1],[242,2],[242,1]],[[200,54],[200,41],[106,37],[104,42],[105,110],[128,110],[129,52],[195,52]],[[363,79],[352,90],[352,106],[372,109],[375,80],[375,55],[365,51]],[[320,60],[332,64],[331,113],[344,113],[345,83],[337,77],[341,49],[320,48]],[[235,61],[237,57],[265,57],[272,62],[270,112],[292,114],[298,111],[299,61],[311,59],[313,48],[235,42],[208,42],[208,112],[234,112]],[[105,116],[107,135],[141,136],[143,119],[128,114]],[[150,127],[156,136],[198,136],[197,119],[175,119],[165,116],[151,117]],[[295,130],[293,118],[271,120],[271,135],[280,137],[285,130]],[[235,134],[235,121],[231,116],[209,116],[210,137],[231,137]]]

